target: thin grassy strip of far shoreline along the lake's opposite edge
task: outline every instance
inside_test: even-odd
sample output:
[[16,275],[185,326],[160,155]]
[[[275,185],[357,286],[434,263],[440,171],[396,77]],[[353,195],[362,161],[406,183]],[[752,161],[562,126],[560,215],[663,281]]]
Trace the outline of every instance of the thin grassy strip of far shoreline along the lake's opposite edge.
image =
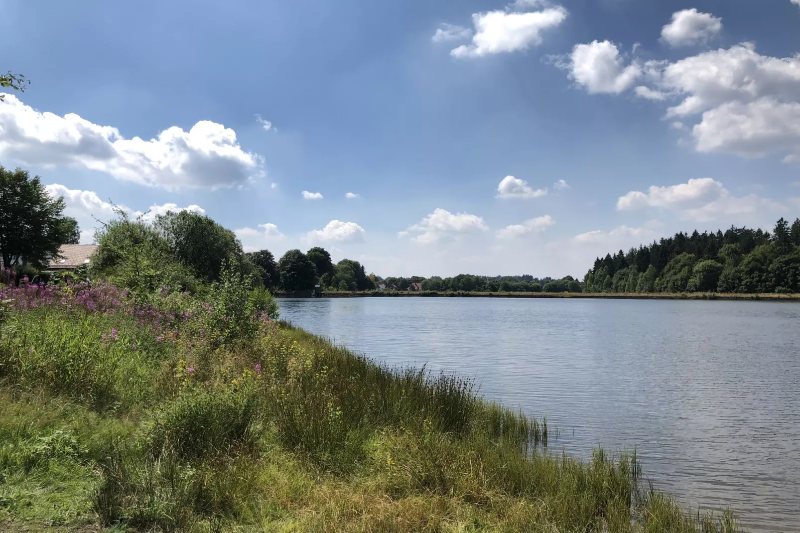
[[528,299],[632,299],[632,300],[744,300],[798,302],[800,294],[745,293],[606,293],[606,292],[436,292],[436,291],[311,291],[276,293],[276,298],[528,298]]

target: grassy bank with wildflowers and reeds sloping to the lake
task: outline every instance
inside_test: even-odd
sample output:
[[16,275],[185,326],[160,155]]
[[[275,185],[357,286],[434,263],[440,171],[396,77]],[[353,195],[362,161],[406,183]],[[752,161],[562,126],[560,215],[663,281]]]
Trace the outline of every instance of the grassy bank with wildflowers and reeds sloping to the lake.
[[453,377],[187,295],[11,293],[2,531],[738,531]]

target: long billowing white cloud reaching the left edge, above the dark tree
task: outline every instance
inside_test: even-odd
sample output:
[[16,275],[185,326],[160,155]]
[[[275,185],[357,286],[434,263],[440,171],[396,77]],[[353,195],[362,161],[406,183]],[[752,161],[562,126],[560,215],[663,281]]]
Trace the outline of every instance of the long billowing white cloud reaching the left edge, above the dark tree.
[[145,141],[74,113],[40,113],[14,94],[0,102],[0,157],[84,167],[166,190],[240,186],[262,174],[262,158],[242,150],[234,130],[216,122],[201,121],[189,131],[172,126]]

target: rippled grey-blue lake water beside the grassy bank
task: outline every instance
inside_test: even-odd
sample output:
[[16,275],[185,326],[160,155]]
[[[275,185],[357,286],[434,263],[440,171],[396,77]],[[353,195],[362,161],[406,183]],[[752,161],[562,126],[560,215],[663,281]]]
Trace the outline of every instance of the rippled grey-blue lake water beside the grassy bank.
[[693,508],[800,531],[800,303],[283,299],[281,315],[378,361],[474,378],[558,426],[551,448],[635,447]]

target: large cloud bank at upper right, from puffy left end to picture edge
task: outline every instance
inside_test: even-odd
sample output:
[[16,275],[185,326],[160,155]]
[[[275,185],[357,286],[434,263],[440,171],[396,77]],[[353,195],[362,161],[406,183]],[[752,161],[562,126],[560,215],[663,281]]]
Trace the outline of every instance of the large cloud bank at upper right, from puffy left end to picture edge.
[[639,82],[638,97],[670,102],[665,118],[673,127],[681,118],[698,152],[800,157],[800,54],[771,57],[742,42],[674,62],[626,64],[614,43],[594,41],[554,64],[590,93],[620,94]]

